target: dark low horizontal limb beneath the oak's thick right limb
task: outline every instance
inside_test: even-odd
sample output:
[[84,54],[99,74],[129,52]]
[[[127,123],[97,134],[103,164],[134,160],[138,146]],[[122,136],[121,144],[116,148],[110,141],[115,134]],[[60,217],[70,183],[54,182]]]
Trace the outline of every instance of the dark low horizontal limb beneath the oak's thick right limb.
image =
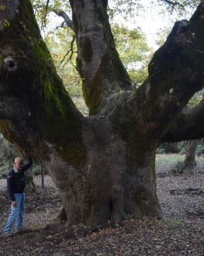
[[204,100],[192,109],[184,109],[171,125],[163,142],[201,139],[204,137]]

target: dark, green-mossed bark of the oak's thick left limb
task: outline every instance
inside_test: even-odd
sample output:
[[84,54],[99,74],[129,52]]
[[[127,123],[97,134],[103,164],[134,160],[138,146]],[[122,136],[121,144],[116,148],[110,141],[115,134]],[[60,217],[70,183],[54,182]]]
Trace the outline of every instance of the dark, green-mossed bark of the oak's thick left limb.
[[[38,139],[54,144],[63,159],[75,166],[80,162],[76,158],[84,159],[86,154],[82,150],[83,117],[75,109],[63,82],[56,74],[29,0],[20,2],[16,16],[9,22],[10,25],[0,35],[0,87],[6,85],[5,96],[16,98],[29,109],[29,115],[23,121],[36,132]],[[8,72],[4,64],[6,57],[11,57],[16,63],[15,72]],[[5,137],[19,144],[20,139],[10,134],[7,123],[7,120],[0,122]],[[12,120],[14,126],[17,123]],[[37,148],[39,143],[33,140]],[[45,151],[39,147],[39,157],[48,158]]]

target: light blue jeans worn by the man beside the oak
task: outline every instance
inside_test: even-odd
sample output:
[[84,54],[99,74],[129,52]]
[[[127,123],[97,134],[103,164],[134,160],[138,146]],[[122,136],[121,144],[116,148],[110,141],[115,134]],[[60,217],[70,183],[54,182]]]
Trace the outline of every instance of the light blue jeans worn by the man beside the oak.
[[16,221],[16,231],[22,229],[22,214],[24,213],[24,193],[14,193],[16,207],[11,205],[12,211],[7,219],[3,233],[11,233],[14,221]]

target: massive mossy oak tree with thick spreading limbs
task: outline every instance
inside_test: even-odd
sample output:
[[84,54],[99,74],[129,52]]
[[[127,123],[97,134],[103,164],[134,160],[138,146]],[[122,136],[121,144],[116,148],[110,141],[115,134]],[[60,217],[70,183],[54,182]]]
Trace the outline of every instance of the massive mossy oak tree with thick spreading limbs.
[[76,109],[56,74],[29,0],[2,0],[3,135],[50,173],[69,223],[98,225],[124,214],[163,218],[156,148],[204,135],[204,102],[184,109],[203,87],[204,1],[189,21],[175,23],[136,90],[116,51],[107,1],[69,2],[90,116]]

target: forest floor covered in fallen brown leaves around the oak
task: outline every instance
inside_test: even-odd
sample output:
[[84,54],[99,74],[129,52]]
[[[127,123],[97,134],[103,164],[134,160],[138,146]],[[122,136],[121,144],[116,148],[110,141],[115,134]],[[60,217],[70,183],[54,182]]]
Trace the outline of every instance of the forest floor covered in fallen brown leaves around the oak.
[[[165,224],[145,216],[141,220],[126,214],[120,225],[97,227],[90,231],[82,223],[69,227],[54,217],[62,208],[61,198],[48,175],[45,188],[41,176],[35,177],[35,192],[27,192],[25,227],[50,224],[43,231],[2,236],[10,212],[6,181],[0,180],[0,255],[204,255],[204,158],[199,158],[194,173],[176,174],[177,155],[171,160],[156,157],[157,189]],[[170,158],[169,158],[170,159]]]

